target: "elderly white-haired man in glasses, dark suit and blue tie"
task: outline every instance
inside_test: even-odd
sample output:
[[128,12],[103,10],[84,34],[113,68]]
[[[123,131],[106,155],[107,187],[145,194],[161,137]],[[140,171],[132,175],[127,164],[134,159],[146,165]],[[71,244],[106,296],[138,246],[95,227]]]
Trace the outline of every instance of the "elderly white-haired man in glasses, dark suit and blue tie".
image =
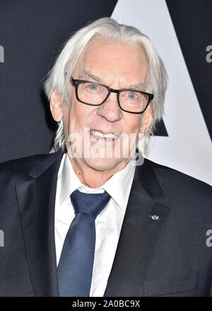
[[136,28],[102,18],[68,40],[45,82],[57,152],[1,164],[1,296],[210,295],[211,187],[136,149],[166,84]]

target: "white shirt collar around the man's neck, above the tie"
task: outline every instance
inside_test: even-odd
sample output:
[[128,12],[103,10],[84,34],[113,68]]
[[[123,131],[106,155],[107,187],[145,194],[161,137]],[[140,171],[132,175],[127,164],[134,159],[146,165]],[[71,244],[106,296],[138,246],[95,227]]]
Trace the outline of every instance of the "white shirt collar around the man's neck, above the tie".
[[59,168],[58,179],[61,179],[61,190],[59,191],[59,205],[64,203],[64,200],[71,196],[71,193],[80,188],[81,191],[102,192],[102,189],[110,194],[111,198],[117,203],[122,211],[126,210],[126,205],[131,190],[131,183],[134,178],[135,166],[132,165],[131,160],[121,171],[114,174],[101,187],[93,189],[88,188],[81,183],[73,171],[71,161],[68,154],[64,154]]

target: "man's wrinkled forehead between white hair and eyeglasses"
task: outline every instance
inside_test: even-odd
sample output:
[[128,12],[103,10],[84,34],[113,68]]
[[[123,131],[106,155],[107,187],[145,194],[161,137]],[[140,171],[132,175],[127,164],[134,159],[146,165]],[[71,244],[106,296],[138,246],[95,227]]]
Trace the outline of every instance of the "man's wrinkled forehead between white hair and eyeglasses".
[[101,72],[140,81],[146,77],[147,68],[146,55],[139,45],[97,37],[86,45],[74,72],[78,79],[86,78],[84,72],[95,76]]

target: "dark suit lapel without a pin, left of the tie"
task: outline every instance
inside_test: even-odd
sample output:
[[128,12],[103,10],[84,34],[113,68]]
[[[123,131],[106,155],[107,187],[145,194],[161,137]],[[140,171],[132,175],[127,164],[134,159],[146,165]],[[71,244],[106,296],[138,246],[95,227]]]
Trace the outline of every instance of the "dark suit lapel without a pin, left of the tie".
[[35,296],[57,296],[54,204],[62,153],[49,154],[16,186],[25,251]]

